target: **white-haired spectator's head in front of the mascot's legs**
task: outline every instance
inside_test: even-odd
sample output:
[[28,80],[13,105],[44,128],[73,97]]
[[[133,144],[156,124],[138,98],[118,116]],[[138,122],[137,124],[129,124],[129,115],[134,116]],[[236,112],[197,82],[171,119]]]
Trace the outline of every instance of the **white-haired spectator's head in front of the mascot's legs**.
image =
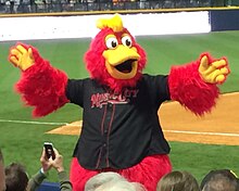
[[85,191],[144,191],[144,187],[137,182],[129,182],[123,176],[113,171],[100,173],[90,178]]

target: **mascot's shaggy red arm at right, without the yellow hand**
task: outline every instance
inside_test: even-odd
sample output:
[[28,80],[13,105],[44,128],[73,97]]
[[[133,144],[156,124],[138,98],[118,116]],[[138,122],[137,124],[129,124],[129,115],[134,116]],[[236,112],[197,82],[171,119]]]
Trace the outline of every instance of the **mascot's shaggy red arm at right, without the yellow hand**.
[[209,53],[203,53],[196,62],[172,67],[168,76],[172,100],[178,101],[196,115],[211,112],[219,96],[216,84],[204,82],[199,74],[200,61],[204,55],[207,56],[209,63],[215,61]]

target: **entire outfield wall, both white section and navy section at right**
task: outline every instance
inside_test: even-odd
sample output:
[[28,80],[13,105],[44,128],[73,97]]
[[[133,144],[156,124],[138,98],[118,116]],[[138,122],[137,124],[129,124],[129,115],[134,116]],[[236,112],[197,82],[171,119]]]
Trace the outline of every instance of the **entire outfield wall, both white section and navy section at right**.
[[[96,21],[111,14],[1,15],[0,41],[91,38],[99,30]],[[122,13],[124,25],[134,36],[200,34],[239,29],[238,9],[164,10]],[[2,27],[4,26],[4,27]]]

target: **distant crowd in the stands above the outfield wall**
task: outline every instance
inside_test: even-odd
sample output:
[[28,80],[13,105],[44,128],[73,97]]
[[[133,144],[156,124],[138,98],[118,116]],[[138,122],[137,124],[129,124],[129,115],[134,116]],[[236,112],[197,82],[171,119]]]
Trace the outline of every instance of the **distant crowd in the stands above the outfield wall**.
[[0,14],[228,7],[235,2],[236,0],[0,0]]

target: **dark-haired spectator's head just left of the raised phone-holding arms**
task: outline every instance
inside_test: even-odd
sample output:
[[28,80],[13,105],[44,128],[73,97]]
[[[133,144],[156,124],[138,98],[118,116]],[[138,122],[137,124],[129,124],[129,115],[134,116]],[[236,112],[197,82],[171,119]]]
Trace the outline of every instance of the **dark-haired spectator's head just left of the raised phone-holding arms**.
[[25,191],[28,183],[28,176],[23,165],[12,163],[5,167],[7,191]]

